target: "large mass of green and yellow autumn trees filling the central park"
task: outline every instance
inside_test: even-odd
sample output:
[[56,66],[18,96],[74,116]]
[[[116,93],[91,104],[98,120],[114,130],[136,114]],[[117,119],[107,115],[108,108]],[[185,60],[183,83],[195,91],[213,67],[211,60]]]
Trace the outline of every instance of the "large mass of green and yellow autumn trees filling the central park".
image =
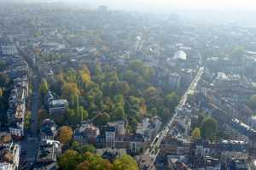
[[69,104],[57,123],[74,127],[87,118],[96,125],[124,120],[134,133],[144,116],[168,120],[179,96],[156,83],[156,75],[153,67],[139,59],[122,67],[108,63],[68,67],[49,82],[49,88]]

